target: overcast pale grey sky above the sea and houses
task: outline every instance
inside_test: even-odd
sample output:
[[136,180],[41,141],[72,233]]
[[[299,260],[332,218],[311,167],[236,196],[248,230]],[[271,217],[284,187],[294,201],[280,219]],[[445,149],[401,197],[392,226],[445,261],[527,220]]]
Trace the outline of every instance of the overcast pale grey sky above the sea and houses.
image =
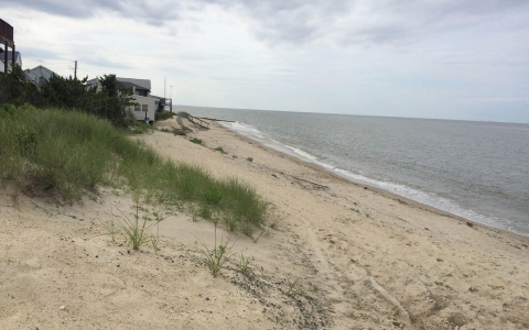
[[[529,123],[527,0],[0,0],[23,68],[173,105]],[[165,87],[164,87],[165,86]]]

